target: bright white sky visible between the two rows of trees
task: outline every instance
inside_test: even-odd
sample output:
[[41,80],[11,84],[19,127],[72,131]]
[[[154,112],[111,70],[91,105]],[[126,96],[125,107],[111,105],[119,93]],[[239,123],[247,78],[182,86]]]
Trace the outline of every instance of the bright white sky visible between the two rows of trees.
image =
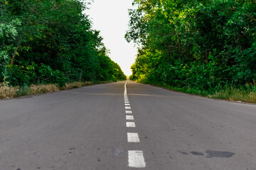
[[132,42],[128,43],[124,35],[128,30],[128,8],[132,8],[132,0],[94,0],[89,7],[85,13],[92,19],[92,28],[100,30],[110,58],[119,64],[125,75],[131,75],[137,48]]

